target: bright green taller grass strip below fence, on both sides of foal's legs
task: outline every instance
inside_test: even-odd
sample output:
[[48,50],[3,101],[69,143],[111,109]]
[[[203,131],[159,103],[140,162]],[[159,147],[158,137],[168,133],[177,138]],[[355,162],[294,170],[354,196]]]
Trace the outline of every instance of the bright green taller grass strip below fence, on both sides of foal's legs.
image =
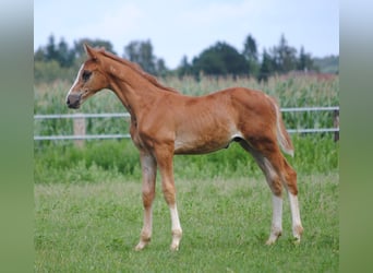
[[[288,158],[302,175],[338,169],[339,144],[329,135],[294,136],[294,158]],[[34,152],[35,183],[103,182],[141,179],[139,152],[130,140],[91,141],[83,149],[59,143]],[[229,149],[205,155],[175,156],[176,179],[229,179],[263,177],[250,154],[232,143]]]

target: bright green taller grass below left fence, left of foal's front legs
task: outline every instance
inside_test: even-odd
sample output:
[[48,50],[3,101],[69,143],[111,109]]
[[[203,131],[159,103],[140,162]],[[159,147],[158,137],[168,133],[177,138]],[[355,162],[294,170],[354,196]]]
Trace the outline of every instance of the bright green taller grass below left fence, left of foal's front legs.
[[79,149],[61,142],[34,152],[36,183],[100,182],[121,177],[140,179],[139,152],[130,141],[94,141]]

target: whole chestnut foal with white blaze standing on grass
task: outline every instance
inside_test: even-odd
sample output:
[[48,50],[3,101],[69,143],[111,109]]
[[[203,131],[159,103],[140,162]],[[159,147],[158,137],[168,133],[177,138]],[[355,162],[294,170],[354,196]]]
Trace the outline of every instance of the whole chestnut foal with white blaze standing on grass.
[[111,90],[131,116],[130,134],[140,152],[144,222],[135,250],[152,238],[157,168],[171,216],[171,250],[179,250],[182,237],[173,180],[173,155],[205,154],[238,142],[262,169],[272,190],[273,218],[266,245],[282,233],[282,187],[287,190],[294,242],[300,242],[297,173],[281,150],[293,156],[275,98],[261,91],[231,87],[204,96],[186,96],[159,83],[134,62],[105,48],[84,45],[87,60],[67,95],[69,108],[81,105],[100,90]]

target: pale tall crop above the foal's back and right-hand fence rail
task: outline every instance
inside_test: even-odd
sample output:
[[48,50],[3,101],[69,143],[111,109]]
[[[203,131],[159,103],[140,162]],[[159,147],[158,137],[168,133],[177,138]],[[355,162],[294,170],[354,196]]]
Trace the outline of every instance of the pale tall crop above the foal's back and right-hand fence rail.
[[166,78],[163,82],[186,95],[201,96],[214,91],[232,86],[261,90],[276,97],[281,107],[335,106],[339,105],[339,78],[322,80],[317,76],[272,76],[267,82],[257,82],[252,78],[203,76]]

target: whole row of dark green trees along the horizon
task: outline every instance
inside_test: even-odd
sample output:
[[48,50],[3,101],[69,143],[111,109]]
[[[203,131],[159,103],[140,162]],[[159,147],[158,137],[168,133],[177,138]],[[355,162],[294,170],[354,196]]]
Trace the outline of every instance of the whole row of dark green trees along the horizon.
[[[105,47],[106,50],[118,55],[108,40],[82,38],[69,46],[63,38],[57,43],[51,35],[47,45],[34,52],[35,82],[71,80],[85,59],[84,43],[94,47]],[[129,43],[123,47],[121,57],[139,63],[145,71],[157,76],[193,75],[198,79],[201,74],[245,75],[266,81],[273,74],[285,74],[294,70],[318,70],[311,54],[305,52],[303,47],[298,52],[288,44],[284,34],[278,45],[263,49],[262,52],[258,52],[256,40],[252,35],[248,35],[244,39],[242,51],[226,41],[217,41],[192,60],[188,60],[186,56],[182,57],[175,70],[168,69],[165,60],[154,55],[149,39]]]

